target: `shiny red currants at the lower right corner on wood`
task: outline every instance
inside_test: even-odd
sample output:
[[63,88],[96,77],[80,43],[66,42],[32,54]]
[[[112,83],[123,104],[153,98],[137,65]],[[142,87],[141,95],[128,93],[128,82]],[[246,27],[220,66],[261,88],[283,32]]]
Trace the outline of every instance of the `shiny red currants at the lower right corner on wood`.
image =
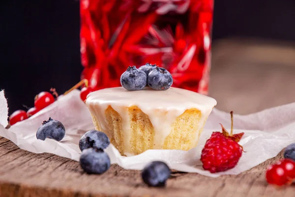
[[269,184],[290,185],[295,180],[295,161],[283,159],[270,165],[266,171],[266,181]]

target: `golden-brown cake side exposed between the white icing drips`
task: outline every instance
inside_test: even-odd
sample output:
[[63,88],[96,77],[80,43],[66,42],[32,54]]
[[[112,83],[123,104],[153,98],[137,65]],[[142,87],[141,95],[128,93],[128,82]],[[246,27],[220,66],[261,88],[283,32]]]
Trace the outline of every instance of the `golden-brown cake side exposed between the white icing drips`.
[[[130,141],[129,146],[124,144],[124,133],[122,129],[122,118],[111,106],[105,111],[106,122],[111,143],[122,155],[138,155],[148,149],[154,148],[154,128],[149,121],[148,115],[137,106],[128,108],[130,119]],[[99,122],[94,116],[95,129],[102,131]],[[171,127],[170,134],[165,138],[162,149],[189,150],[197,145],[204,124],[200,127],[199,120],[201,112],[197,109],[188,109],[177,117]],[[129,147],[129,148],[128,148]]]

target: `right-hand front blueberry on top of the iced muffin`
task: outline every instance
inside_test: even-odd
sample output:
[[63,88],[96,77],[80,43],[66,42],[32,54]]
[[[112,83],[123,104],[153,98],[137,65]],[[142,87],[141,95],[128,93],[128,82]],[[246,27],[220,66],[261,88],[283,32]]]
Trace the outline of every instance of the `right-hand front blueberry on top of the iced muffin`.
[[154,90],[167,90],[172,84],[172,75],[165,68],[156,67],[148,74],[148,86]]

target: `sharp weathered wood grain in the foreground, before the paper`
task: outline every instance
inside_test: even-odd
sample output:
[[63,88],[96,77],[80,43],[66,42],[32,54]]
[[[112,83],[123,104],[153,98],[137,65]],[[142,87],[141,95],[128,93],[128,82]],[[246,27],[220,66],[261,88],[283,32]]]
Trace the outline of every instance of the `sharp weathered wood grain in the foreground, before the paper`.
[[268,186],[266,166],[275,159],[237,176],[209,178],[173,172],[166,188],[148,188],[140,171],[112,165],[102,175],[88,175],[78,162],[52,154],[33,154],[0,138],[1,197],[291,197],[295,187]]

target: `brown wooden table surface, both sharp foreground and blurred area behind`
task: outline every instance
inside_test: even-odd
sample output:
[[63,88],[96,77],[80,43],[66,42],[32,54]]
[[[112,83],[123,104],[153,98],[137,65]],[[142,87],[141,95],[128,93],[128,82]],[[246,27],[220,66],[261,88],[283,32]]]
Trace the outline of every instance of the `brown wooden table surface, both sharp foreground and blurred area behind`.
[[[239,114],[295,101],[295,45],[220,41],[212,48],[210,95],[217,108]],[[294,197],[265,181],[270,159],[242,174],[209,178],[173,172],[166,188],[148,188],[140,171],[112,165],[88,175],[78,162],[34,154],[0,138],[0,197]]]

